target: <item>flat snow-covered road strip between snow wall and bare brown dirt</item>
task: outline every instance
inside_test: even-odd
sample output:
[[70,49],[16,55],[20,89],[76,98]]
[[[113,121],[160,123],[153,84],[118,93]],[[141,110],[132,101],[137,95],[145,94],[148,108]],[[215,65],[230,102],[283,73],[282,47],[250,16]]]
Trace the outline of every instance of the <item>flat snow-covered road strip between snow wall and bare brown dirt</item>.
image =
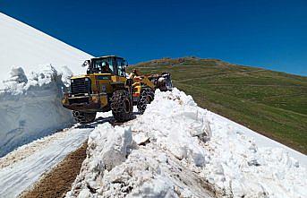
[[0,159],[1,197],[16,197],[85,142],[93,128],[73,126],[24,145]]

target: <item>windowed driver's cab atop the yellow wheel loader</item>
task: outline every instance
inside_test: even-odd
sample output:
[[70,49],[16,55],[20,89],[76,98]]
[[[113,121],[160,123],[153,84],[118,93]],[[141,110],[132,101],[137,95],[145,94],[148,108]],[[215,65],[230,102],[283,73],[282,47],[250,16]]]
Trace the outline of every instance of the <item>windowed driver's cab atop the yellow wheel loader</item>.
[[88,65],[87,73],[111,73],[118,76],[126,76],[124,58],[118,56],[101,56],[92,58],[83,65]]

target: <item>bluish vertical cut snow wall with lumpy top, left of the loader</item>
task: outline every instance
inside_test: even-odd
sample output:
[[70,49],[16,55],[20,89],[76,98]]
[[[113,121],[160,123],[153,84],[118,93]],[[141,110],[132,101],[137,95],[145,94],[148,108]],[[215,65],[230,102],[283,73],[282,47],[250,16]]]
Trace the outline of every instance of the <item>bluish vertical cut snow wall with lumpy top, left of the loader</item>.
[[0,90],[0,156],[72,123],[72,114],[61,104],[62,76],[52,65],[38,66],[27,76],[13,67]]

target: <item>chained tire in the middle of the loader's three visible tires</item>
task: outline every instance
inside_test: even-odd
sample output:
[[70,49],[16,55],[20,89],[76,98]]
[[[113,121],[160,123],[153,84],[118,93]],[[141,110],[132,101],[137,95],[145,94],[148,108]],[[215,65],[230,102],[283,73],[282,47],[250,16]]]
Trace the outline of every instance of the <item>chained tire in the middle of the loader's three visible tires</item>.
[[112,114],[116,121],[125,122],[132,119],[132,99],[126,90],[116,90],[111,98]]

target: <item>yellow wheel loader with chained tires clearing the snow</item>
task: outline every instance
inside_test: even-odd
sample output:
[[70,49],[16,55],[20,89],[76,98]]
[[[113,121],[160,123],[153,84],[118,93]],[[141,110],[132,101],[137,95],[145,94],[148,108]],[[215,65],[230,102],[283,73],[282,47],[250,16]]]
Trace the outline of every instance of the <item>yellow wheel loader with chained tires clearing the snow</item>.
[[141,75],[134,70],[128,77],[127,64],[119,56],[91,58],[83,66],[88,67],[87,73],[71,78],[70,91],[62,100],[81,124],[93,122],[97,112],[109,110],[118,122],[130,120],[133,105],[143,113],[156,89],[172,89],[169,73]]

